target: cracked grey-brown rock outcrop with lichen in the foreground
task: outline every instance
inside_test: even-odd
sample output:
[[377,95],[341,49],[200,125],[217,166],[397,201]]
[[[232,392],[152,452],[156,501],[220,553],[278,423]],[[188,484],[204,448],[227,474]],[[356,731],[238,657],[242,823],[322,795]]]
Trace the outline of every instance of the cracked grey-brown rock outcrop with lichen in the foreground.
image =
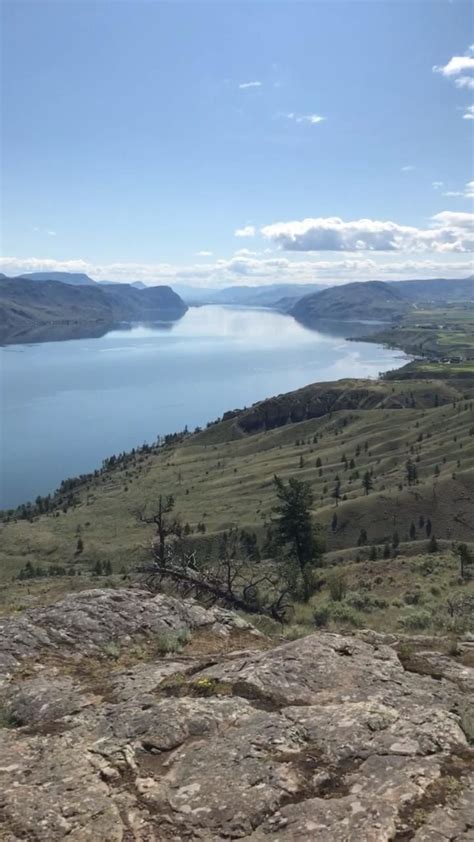
[[472,644],[416,644],[137,590],[4,620],[0,839],[473,840]]

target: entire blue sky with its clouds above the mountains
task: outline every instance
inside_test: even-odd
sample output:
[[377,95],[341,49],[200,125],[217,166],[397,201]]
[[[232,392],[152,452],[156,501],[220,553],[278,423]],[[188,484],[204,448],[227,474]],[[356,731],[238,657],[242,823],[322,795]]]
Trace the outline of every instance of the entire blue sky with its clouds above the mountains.
[[464,0],[2,0],[0,271],[465,277]]

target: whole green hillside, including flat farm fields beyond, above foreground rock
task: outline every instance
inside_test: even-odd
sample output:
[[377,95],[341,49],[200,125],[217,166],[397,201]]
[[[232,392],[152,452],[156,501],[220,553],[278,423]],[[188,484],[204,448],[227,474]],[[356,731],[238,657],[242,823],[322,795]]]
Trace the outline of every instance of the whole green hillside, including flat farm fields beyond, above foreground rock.
[[[422,343],[424,356],[383,380],[313,384],[227,412],[203,431],[66,480],[46,503],[5,513],[0,614],[97,584],[98,562],[111,565],[110,585],[126,584],[149,560],[153,537],[136,512],[153,511],[160,494],[175,497],[200,557],[215,554],[234,526],[255,533],[265,556],[278,474],[311,485],[327,547],[318,590],[296,606],[290,634],[314,623],[435,632],[456,627],[453,605],[470,612],[463,627],[474,626],[474,578],[460,577],[454,552],[461,541],[474,552],[472,323],[468,306],[418,308],[378,339],[406,350]],[[60,575],[21,581],[27,563]]]

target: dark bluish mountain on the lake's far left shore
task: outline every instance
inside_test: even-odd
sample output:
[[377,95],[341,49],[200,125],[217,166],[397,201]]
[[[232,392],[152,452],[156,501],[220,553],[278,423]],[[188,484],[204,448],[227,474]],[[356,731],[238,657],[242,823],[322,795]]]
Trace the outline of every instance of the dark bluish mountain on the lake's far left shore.
[[[40,282],[39,282],[40,281]],[[187,310],[170,287],[63,283],[35,278],[0,279],[0,341],[21,341],[39,326],[112,325],[120,321],[171,321]],[[66,336],[64,336],[66,338]]]

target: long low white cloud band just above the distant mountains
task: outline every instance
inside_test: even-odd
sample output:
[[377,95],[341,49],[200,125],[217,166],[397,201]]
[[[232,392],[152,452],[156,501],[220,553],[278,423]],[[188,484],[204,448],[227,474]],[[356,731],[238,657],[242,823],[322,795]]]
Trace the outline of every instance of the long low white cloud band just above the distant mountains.
[[376,254],[336,260],[319,260],[310,256],[303,260],[280,255],[274,258],[234,256],[178,266],[168,263],[109,263],[96,264],[86,260],[44,260],[41,258],[0,258],[0,271],[7,275],[23,272],[85,272],[96,280],[115,280],[127,283],[141,280],[148,285],[192,284],[193,286],[223,287],[233,284],[256,286],[267,283],[324,282],[343,284],[349,281],[403,280],[416,277],[465,277],[472,273],[472,261],[443,259],[392,259]]

